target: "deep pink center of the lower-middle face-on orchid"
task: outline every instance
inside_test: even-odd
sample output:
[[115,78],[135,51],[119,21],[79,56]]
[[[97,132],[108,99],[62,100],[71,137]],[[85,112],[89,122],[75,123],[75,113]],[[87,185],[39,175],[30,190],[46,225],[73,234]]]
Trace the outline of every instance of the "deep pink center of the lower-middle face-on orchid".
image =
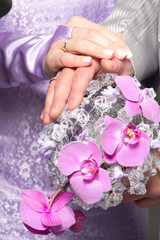
[[94,159],[84,160],[81,164],[81,173],[85,179],[93,179],[99,173],[99,167]]

